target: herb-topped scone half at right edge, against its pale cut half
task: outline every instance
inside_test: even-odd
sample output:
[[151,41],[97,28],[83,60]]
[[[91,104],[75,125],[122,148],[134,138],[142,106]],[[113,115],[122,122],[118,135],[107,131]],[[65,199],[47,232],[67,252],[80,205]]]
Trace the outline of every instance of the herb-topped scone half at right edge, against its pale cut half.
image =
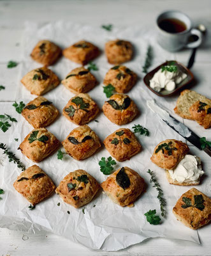
[[196,120],[198,124],[202,125],[205,129],[211,127],[211,100],[206,99],[201,102],[196,101],[190,108],[189,113],[191,119]]

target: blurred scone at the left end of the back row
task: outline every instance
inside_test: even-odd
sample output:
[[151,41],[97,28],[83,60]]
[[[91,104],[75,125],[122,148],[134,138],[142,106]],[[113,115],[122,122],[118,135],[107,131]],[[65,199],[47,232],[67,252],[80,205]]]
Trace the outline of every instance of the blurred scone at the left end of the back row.
[[38,42],[31,52],[31,58],[43,64],[43,66],[50,66],[54,64],[60,56],[60,47],[48,40],[41,40]]

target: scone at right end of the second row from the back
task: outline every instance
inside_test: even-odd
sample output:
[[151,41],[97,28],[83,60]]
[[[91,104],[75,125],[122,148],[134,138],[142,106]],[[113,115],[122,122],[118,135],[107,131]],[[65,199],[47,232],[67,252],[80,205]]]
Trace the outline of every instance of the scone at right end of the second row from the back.
[[136,81],[137,75],[135,72],[125,66],[115,66],[108,70],[103,83],[105,86],[112,84],[116,92],[126,93],[131,90]]

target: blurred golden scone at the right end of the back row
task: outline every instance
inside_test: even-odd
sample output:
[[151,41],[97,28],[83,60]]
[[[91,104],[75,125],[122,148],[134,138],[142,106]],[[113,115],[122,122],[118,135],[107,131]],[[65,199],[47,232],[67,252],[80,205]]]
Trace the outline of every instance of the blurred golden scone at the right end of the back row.
[[133,45],[119,39],[108,41],[105,45],[105,53],[109,63],[121,64],[132,59]]

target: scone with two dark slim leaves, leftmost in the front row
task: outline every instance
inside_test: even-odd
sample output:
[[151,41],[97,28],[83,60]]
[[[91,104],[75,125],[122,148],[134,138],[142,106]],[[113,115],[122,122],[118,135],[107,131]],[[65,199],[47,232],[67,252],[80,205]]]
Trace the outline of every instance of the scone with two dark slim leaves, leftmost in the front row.
[[40,203],[55,190],[54,182],[36,164],[20,173],[13,186],[32,205]]

